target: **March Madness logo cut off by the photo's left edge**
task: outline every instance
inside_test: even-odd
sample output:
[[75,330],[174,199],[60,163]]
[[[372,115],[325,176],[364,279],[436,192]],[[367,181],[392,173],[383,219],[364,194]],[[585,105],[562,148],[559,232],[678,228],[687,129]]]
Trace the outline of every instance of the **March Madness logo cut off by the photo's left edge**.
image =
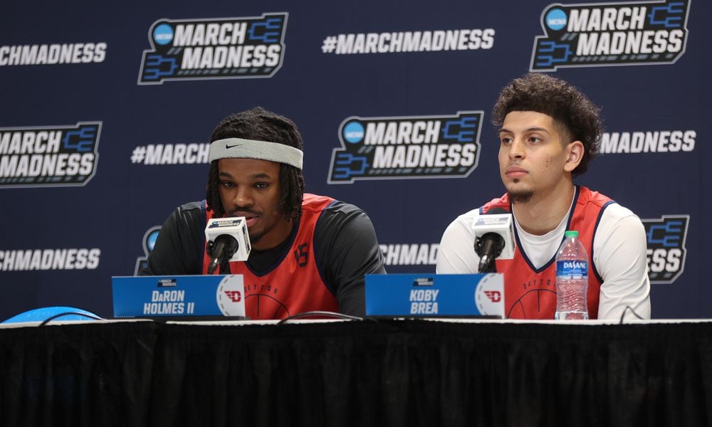
[[101,122],[0,128],[0,188],[83,186],[96,172]]

